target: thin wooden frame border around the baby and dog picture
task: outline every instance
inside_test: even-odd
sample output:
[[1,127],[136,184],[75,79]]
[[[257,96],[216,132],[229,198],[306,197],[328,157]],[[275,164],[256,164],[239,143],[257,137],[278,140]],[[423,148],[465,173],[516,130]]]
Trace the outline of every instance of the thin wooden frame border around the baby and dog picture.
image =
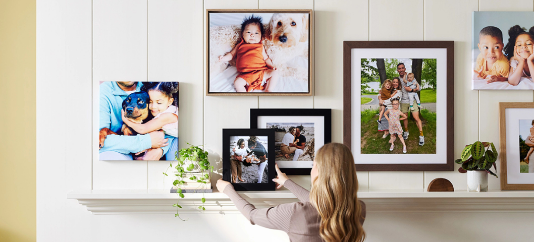
[[[209,74],[209,14],[210,13],[308,13],[308,92],[210,92]],[[311,96],[313,95],[313,10],[303,9],[206,9],[206,95],[207,96]]]

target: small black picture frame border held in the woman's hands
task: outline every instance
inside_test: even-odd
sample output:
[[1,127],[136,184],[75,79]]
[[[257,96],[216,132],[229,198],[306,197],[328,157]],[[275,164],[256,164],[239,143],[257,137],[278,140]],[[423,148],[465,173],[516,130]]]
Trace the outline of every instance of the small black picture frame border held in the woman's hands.
[[[231,136],[267,136],[267,183],[232,183],[230,170],[230,137]],[[274,161],[269,162],[269,157],[274,157],[274,130],[272,128],[223,128],[223,180],[232,183],[236,191],[274,191],[276,178]]]

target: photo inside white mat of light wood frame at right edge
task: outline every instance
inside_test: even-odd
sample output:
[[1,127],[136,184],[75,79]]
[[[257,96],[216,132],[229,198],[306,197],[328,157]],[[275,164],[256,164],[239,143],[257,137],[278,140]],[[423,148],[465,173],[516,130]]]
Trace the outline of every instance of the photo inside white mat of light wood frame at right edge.
[[520,173],[534,173],[534,120],[519,120]]

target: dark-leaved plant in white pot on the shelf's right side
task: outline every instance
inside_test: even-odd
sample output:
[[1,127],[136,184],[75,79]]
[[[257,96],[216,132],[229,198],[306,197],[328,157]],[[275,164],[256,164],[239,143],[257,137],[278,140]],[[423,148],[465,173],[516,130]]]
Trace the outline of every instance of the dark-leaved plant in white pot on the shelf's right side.
[[[462,165],[458,168],[460,173],[467,173],[467,190],[468,191],[488,191],[488,174],[497,176],[497,149],[493,143],[477,141],[468,144],[460,159],[455,160],[457,164]],[[490,170],[495,168],[495,172]]]

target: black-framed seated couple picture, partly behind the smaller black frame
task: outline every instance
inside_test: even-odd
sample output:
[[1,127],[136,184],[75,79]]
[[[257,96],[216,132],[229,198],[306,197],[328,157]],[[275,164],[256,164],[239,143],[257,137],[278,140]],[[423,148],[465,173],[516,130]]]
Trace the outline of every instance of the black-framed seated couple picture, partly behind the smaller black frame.
[[250,128],[274,130],[274,160],[288,175],[309,175],[332,141],[332,109],[250,109]]

